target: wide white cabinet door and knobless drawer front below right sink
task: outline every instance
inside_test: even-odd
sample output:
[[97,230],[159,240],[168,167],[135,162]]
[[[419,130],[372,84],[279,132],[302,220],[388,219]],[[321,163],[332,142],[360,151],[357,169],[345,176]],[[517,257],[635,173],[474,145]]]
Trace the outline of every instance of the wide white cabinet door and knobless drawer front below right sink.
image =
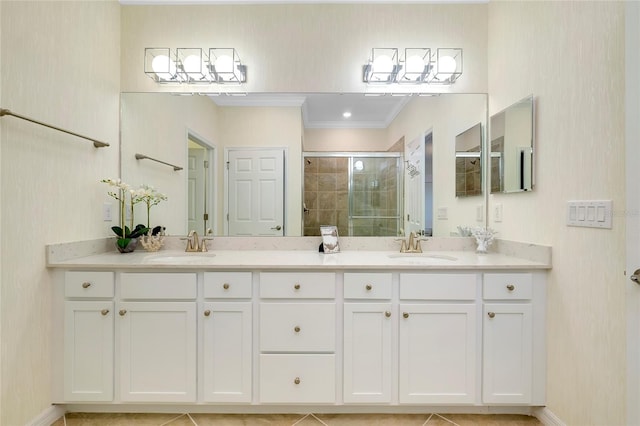
[[475,273],[401,273],[399,402],[473,404],[477,383]]

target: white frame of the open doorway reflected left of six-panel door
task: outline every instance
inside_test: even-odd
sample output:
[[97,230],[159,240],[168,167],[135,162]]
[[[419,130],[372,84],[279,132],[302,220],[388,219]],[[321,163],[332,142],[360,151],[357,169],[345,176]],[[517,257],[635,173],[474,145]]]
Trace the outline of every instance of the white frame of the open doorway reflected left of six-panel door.
[[[215,208],[216,200],[218,199],[218,172],[216,165],[218,164],[218,149],[215,144],[208,141],[206,138],[200,136],[197,132],[187,127],[186,129],[186,144],[185,144],[185,158],[189,158],[189,140],[194,141],[198,145],[205,148],[205,158],[209,162],[209,174],[205,178],[207,184],[207,211],[209,212],[209,227],[213,230],[213,234],[217,235],[217,223],[218,223],[218,209]],[[184,193],[189,197],[189,174],[184,174]],[[185,199],[184,203],[184,217],[185,221],[185,235],[189,232],[189,205],[188,199]],[[205,230],[206,231],[206,230]]]

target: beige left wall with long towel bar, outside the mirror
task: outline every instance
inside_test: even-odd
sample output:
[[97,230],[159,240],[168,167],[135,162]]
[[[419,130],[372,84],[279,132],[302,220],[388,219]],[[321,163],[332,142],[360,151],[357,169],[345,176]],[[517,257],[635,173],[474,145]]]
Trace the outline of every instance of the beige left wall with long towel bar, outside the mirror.
[[51,272],[44,246],[107,235],[99,180],[118,173],[116,2],[0,2],[3,108],[111,144],[0,119],[0,424],[51,404]]

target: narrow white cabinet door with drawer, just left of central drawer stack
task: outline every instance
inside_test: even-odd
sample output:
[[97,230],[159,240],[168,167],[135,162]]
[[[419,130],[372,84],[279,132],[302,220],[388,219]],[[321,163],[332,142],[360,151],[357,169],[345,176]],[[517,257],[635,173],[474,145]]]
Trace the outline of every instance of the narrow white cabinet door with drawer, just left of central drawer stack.
[[251,272],[205,272],[202,393],[205,402],[251,402]]

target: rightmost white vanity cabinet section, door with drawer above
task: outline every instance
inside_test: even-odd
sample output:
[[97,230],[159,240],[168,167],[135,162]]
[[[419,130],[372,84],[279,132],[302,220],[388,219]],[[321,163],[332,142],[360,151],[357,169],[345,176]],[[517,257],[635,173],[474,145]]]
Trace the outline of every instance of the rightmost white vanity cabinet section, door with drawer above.
[[539,375],[544,374],[540,349],[544,348],[544,330],[540,329],[544,324],[544,285],[534,283],[536,278],[539,276],[529,272],[484,274],[485,404],[535,404],[544,399],[539,383]]

